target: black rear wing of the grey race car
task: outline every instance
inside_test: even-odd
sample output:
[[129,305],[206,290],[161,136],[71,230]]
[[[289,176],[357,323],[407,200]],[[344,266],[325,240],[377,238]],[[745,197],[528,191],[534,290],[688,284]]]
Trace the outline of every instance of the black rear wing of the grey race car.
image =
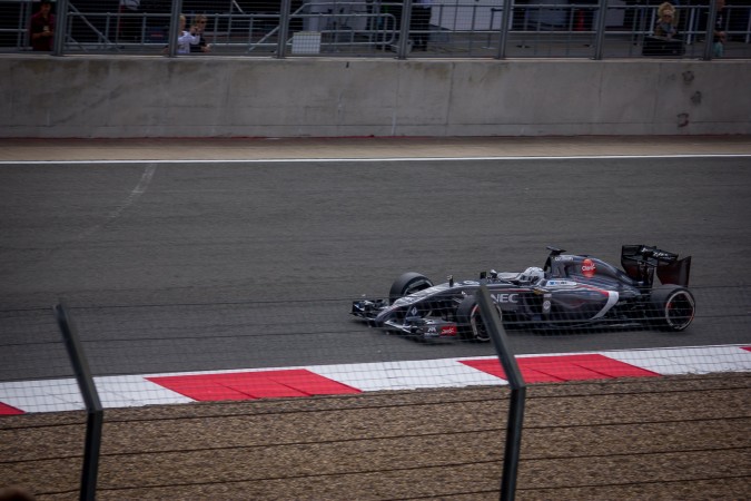
[[679,259],[678,254],[658,247],[642,244],[624,245],[621,247],[621,265],[631,278],[650,287],[654,281],[655,269],[661,283],[689,286],[691,256]]

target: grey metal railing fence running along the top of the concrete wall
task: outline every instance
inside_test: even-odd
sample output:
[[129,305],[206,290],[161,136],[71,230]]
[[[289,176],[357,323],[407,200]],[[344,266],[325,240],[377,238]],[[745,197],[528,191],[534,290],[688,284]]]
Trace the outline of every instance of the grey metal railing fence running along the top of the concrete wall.
[[[80,0],[78,0],[80,1]],[[635,58],[643,57],[645,39],[656,23],[656,4],[515,3],[512,0],[434,0],[429,22],[418,26],[413,0],[308,0],[293,8],[290,0],[268,3],[263,12],[231,1],[219,9],[186,13],[188,26],[198,13],[208,18],[204,38],[215,56],[277,57],[397,57],[404,58]],[[622,0],[620,0],[622,1]],[[57,0],[63,27],[53,53],[139,53],[175,56],[172,19],[182,10],[118,10],[95,12],[77,0]],[[116,6],[113,6],[116,7]],[[216,6],[215,6],[216,7]],[[177,12],[175,9],[180,9]],[[65,12],[61,12],[65,10]],[[680,50],[649,56],[712,59],[706,27],[718,16],[712,6],[675,7]],[[29,0],[2,1],[0,52],[30,50],[28,26],[34,11]],[[725,58],[751,58],[751,7],[728,6],[722,13],[728,41]],[[127,26],[126,29],[123,28]],[[127,36],[126,36],[127,35]],[[426,39],[424,50],[415,40]]]

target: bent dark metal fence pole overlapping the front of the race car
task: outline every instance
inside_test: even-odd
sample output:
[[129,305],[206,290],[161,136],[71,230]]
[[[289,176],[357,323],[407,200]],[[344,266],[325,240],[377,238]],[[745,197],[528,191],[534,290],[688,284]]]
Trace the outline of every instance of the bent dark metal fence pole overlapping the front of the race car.
[[524,424],[524,401],[526,384],[518,370],[516,358],[511,351],[508,338],[501,324],[501,317],[495,310],[487,286],[481,285],[475,296],[485,327],[491,335],[493,346],[501,361],[511,386],[511,402],[508,404],[508,424],[506,428],[506,445],[503,454],[503,479],[501,481],[501,501],[513,501],[516,495],[516,477],[522,449],[522,428]]

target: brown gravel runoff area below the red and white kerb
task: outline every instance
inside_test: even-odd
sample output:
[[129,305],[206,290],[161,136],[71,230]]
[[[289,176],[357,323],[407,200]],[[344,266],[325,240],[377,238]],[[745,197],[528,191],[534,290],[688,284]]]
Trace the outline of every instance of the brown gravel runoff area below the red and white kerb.
[[[518,500],[748,499],[751,374],[533,384]],[[498,499],[506,386],[105,411],[99,500]],[[0,419],[0,485],[78,499],[86,414]]]

